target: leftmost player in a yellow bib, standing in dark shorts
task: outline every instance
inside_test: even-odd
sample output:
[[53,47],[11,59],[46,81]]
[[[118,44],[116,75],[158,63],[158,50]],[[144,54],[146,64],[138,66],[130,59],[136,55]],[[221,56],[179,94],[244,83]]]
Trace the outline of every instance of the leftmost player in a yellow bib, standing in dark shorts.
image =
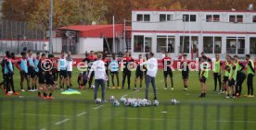
[[201,83],[201,95],[198,98],[205,98],[206,97],[206,80],[209,75],[209,63],[206,62],[207,57],[202,56],[201,58],[202,64],[200,65],[200,73],[199,73],[199,80]]

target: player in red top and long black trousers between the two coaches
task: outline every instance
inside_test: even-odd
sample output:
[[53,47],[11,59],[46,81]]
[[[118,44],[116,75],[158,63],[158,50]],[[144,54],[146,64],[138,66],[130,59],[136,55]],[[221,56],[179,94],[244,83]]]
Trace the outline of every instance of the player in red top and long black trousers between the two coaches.
[[131,89],[131,65],[134,62],[133,57],[130,56],[129,52],[126,52],[124,54],[124,57],[122,57],[122,66],[123,66],[123,72],[122,72],[122,89],[124,89],[125,79],[127,77],[127,83],[128,83],[128,89]]

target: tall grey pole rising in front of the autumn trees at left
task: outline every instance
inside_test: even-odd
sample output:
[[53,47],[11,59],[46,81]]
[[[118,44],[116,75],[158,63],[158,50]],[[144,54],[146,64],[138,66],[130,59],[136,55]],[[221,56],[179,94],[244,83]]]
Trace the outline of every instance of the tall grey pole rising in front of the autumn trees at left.
[[50,0],[50,16],[49,16],[49,53],[53,53],[53,0]]

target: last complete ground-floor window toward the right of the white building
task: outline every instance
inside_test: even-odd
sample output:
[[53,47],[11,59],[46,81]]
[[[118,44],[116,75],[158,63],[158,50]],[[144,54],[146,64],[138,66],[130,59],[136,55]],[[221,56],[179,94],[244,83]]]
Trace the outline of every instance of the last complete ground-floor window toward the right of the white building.
[[227,37],[226,53],[245,54],[245,38],[244,37]]

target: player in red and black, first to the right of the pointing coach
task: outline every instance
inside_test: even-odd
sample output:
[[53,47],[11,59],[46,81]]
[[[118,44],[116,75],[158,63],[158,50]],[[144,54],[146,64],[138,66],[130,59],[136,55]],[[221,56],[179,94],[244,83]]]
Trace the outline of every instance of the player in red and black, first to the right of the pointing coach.
[[171,78],[171,85],[173,90],[173,71],[171,68],[172,65],[172,58],[168,52],[165,52],[164,58],[162,59],[162,65],[163,65],[163,77],[164,77],[164,83],[165,87],[164,89],[167,89],[167,77],[169,76]]

